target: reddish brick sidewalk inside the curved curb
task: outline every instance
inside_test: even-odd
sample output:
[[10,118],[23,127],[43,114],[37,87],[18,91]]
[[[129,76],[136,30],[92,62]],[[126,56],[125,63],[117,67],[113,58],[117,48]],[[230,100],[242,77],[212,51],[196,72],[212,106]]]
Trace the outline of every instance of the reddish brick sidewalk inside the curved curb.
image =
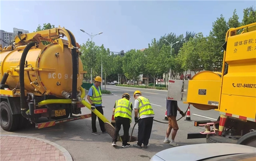
[[[56,148],[56,146],[40,140],[43,139],[31,139],[26,136],[0,136],[0,161],[67,160],[61,150]],[[70,160],[70,158],[68,160]]]

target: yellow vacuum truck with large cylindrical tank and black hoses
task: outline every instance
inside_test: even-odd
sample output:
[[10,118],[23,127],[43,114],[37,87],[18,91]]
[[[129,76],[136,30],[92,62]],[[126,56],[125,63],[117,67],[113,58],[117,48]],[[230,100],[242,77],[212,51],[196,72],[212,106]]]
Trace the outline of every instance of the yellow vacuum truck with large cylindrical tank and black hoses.
[[[64,36],[67,40],[61,39]],[[79,48],[74,35],[60,26],[18,34],[15,42],[0,47],[0,125],[4,130],[17,130],[28,122],[45,128],[91,117],[91,111],[79,115],[81,107],[91,109],[83,100],[86,72]],[[109,122],[98,110],[94,113]]]

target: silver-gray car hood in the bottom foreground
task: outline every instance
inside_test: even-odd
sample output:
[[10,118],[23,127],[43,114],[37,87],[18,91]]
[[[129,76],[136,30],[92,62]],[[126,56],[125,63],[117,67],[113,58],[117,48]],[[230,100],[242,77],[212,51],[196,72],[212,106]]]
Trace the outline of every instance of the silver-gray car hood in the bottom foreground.
[[214,156],[256,152],[256,148],[229,143],[184,145],[162,150],[150,161],[198,161]]

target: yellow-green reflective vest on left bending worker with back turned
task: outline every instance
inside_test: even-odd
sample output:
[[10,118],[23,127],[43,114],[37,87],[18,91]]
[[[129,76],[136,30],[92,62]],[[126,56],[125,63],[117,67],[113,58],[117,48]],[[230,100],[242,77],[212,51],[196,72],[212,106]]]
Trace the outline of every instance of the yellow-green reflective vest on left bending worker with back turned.
[[131,109],[132,103],[125,99],[119,99],[115,101],[115,115],[114,117],[116,118],[117,116],[120,116],[122,118],[128,118],[130,119],[130,123],[132,122],[132,109]]

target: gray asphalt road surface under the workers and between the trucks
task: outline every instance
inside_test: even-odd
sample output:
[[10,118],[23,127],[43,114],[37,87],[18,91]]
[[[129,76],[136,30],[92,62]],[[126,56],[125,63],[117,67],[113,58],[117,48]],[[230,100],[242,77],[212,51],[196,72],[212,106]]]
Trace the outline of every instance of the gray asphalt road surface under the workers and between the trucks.
[[[104,86],[103,86],[104,89]],[[135,90],[134,88],[127,87],[117,87],[114,85],[107,85],[107,90],[110,90],[114,95],[103,96],[103,106],[104,116],[111,121],[112,109],[115,104],[115,100],[120,99],[123,93],[129,93],[133,96]],[[166,96],[167,91],[161,90],[149,90],[149,89],[139,89],[142,94],[150,100],[152,107],[155,112],[156,120],[163,121],[165,117],[166,110]],[[87,94],[87,92],[86,92]],[[131,98],[131,101],[134,102],[134,98]],[[182,102],[178,102],[178,106],[184,112],[187,109],[187,105]],[[89,114],[91,111],[89,109],[82,108],[82,114]],[[185,118],[178,121],[179,130],[176,135],[175,141],[180,145],[189,145],[197,143],[206,143],[206,139],[187,139],[187,133],[189,132],[200,132],[204,131],[202,127],[194,127],[193,123],[195,120],[216,120],[219,114],[217,111],[201,111],[195,109],[191,106],[191,119],[193,121],[184,121]],[[178,114],[177,119],[181,115]],[[96,123],[98,132],[100,127],[98,120]],[[132,127],[134,126],[134,120],[131,123],[130,133],[132,132]],[[34,127],[28,127],[23,130],[16,132],[6,132],[0,129],[1,134],[18,134],[18,135],[27,135],[33,137],[39,137],[42,139],[48,139],[53,141],[63,147],[65,147],[70,154],[72,155],[74,161],[148,161],[150,158],[167,148],[173,148],[169,144],[164,144],[163,140],[165,139],[165,132],[168,127],[168,124],[158,123],[154,121],[152,127],[152,133],[149,140],[148,148],[137,149],[135,147],[122,148],[121,142],[117,143],[117,147],[112,147],[112,139],[108,134],[100,134],[95,136],[91,134],[91,118],[76,120],[66,123],[57,124],[53,127],[35,129]],[[138,126],[135,126],[133,136],[137,136]],[[123,134],[121,129],[120,135]],[[171,136],[169,137],[171,139]],[[132,143],[133,144],[133,143]],[[132,145],[131,144],[131,145]],[[185,153],[185,152],[184,152]]]

